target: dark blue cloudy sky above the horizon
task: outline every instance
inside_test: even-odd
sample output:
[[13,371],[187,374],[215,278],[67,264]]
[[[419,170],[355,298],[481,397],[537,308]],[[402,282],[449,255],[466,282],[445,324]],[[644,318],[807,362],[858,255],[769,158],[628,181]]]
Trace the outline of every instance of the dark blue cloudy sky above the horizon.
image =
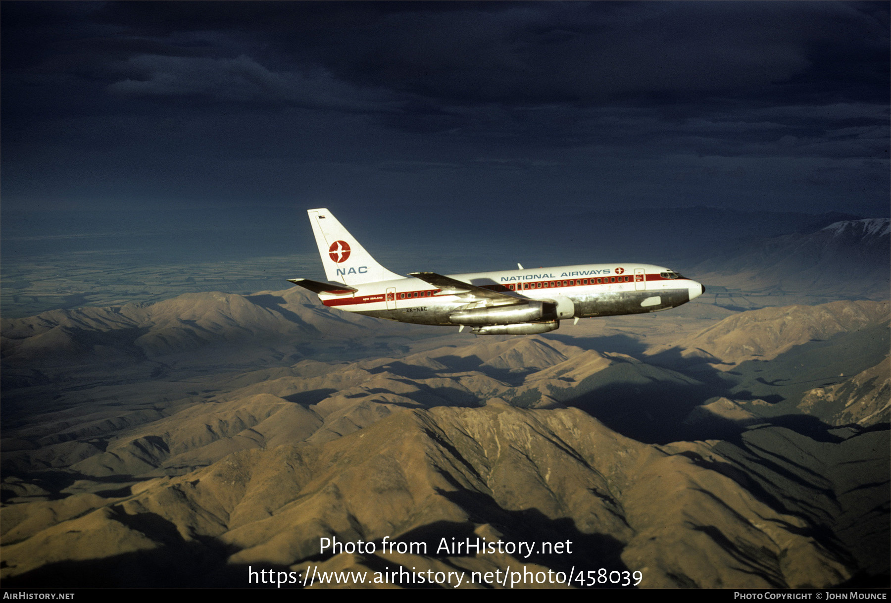
[[4,210],[888,215],[887,3],[0,7]]

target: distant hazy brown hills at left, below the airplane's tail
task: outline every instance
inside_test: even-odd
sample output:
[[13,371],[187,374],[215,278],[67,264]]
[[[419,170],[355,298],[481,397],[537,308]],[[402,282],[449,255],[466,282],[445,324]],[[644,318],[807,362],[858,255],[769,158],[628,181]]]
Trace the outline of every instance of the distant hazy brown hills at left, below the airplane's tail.
[[87,363],[97,356],[132,362],[210,345],[342,340],[411,328],[332,313],[296,287],[249,296],[187,293],[151,305],[52,310],[0,324],[4,363],[29,367]]

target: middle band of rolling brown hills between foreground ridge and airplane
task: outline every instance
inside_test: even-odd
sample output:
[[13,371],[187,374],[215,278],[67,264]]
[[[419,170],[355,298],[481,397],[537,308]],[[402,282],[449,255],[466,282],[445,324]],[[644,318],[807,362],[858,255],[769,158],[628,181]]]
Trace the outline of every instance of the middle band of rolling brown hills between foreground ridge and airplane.
[[402,408],[479,406],[492,398],[529,408],[571,404],[590,410],[597,404],[603,416],[628,415],[640,427],[663,420],[677,403],[654,398],[654,416],[643,416],[638,405],[623,403],[627,392],[658,396],[657,390],[697,385],[625,354],[540,337],[482,339],[401,360],[303,361],[251,371],[217,380],[213,393],[192,392],[130,412],[113,407],[46,414],[39,426],[7,431],[18,444],[11,441],[3,458],[7,469],[19,472],[49,462],[88,477],[178,475],[244,448],[344,436]]

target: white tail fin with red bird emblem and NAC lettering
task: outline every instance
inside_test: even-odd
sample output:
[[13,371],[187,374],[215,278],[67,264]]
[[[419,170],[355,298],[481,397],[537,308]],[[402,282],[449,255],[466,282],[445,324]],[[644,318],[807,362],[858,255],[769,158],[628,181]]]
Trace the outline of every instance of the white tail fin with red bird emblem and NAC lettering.
[[307,214],[329,281],[358,285],[405,278],[378,264],[327,209],[308,209]]

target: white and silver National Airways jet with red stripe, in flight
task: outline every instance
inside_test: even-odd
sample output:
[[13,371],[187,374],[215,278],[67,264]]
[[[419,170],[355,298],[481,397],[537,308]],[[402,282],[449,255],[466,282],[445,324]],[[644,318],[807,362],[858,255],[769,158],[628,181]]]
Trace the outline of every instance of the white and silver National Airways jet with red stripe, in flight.
[[686,304],[705,287],[649,264],[582,264],[491,273],[391,273],[326,208],[308,209],[325,276],[288,279],[325,306],[416,324],[470,327],[477,335],[526,335],[561,320],[645,314]]

